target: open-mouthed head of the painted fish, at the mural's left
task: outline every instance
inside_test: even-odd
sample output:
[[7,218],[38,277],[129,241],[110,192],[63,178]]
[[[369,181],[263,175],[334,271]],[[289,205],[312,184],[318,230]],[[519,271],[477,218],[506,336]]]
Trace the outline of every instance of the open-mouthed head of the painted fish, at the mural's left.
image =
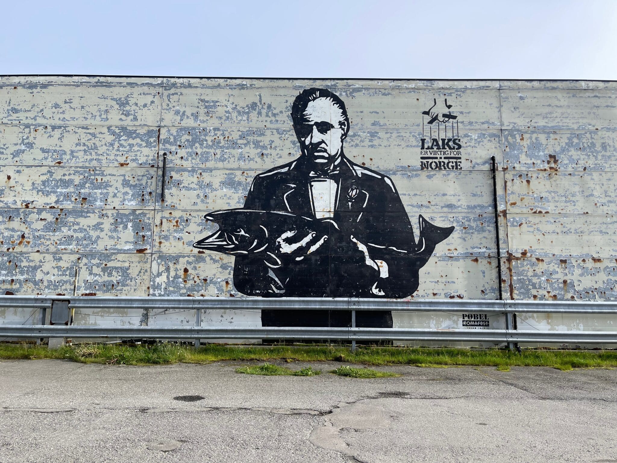
[[265,244],[267,230],[255,222],[254,211],[215,211],[204,218],[217,223],[219,228],[196,241],[194,248],[236,255],[255,252]]

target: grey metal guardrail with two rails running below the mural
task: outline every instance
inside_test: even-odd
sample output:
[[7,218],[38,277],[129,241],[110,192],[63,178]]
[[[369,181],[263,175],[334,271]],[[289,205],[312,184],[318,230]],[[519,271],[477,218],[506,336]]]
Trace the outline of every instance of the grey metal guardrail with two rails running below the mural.
[[[471,341],[487,343],[617,343],[617,332],[523,331],[513,330],[515,313],[536,314],[606,314],[617,315],[617,302],[545,302],[487,300],[413,300],[413,299],[347,299],[347,298],[170,298],[170,297],[92,297],[92,296],[0,296],[0,308],[51,309],[54,301],[68,301],[70,309],[186,309],[197,311],[195,327],[148,326],[65,326],[65,325],[0,325],[4,338],[165,338],[194,339],[297,339],[376,341]],[[203,310],[342,310],[352,312],[350,328],[288,327],[201,327]],[[357,328],[356,311],[393,312],[457,312],[465,314],[505,314],[505,330],[419,330],[401,328]],[[94,314],[93,314],[94,315]],[[510,318],[508,318],[510,317]],[[44,319],[41,319],[43,323]],[[508,322],[509,320],[509,322]]]

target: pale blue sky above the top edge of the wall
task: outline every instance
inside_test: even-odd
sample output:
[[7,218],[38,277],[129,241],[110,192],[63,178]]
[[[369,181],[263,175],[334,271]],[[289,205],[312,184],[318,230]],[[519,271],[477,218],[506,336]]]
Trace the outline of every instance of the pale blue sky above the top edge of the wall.
[[0,12],[0,74],[617,80],[617,0],[47,0]]

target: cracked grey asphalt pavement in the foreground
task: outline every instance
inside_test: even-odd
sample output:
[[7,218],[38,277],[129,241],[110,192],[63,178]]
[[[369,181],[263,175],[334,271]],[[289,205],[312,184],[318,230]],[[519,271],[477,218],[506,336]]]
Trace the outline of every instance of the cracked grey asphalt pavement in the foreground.
[[0,462],[617,463],[617,370],[0,362]]

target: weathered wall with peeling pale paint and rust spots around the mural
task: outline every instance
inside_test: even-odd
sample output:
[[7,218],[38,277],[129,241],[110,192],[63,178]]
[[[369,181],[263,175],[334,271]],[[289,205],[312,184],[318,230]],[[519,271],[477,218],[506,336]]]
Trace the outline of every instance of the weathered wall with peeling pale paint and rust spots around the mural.
[[[414,227],[418,214],[455,226],[413,298],[496,299],[500,283],[513,299],[617,299],[617,83],[600,81],[0,77],[2,293],[242,296],[234,257],[191,245],[217,229],[205,212],[241,207],[257,173],[298,156],[289,113],[310,87],[346,102],[346,155],[392,178]],[[421,170],[421,113],[444,99],[458,117],[461,169]],[[254,312],[209,317],[259,324]],[[523,318],[615,330],[609,317]],[[448,314],[395,319],[460,324]]]

